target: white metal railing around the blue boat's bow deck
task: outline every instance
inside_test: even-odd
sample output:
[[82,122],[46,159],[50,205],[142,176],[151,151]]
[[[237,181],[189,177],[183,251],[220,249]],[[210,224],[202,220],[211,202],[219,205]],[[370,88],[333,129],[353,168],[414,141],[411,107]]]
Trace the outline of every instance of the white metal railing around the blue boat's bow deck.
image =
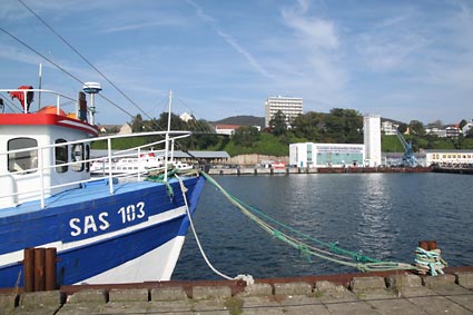
[[[166,135],[168,136],[166,137]],[[155,136],[162,137],[164,139],[158,139],[156,141],[150,141],[145,145],[136,146],[136,147],[124,149],[124,150],[112,149],[114,140],[119,138],[155,137]],[[150,131],[150,132],[140,132],[140,134],[130,134],[130,135],[112,135],[112,136],[90,138],[90,139],[87,139],[87,141],[106,141],[107,155],[100,156],[100,157],[86,157],[82,160],[75,160],[75,161],[70,160],[70,161],[63,161],[63,163],[61,161],[58,164],[52,158],[50,159],[51,163],[49,163],[48,165],[45,165],[45,160],[47,160],[47,157],[53,156],[55,149],[57,147],[63,147],[63,146],[72,147],[73,145],[83,144],[85,139],[53,144],[53,145],[48,145],[42,147],[40,146],[29,147],[23,149],[16,149],[16,150],[9,150],[6,152],[0,152],[0,157],[6,156],[4,158],[2,158],[4,160],[8,160],[9,155],[21,154],[21,152],[29,155],[30,152],[36,152],[33,155],[35,163],[31,163],[29,168],[23,168],[18,170],[7,169],[6,173],[0,174],[0,183],[3,181],[2,178],[7,178],[7,180],[21,181],[26,177],[33,177],[35,178],[33,180],[37,180],[37,185],[30,186],[32,187],[32,189],[21,190],[21,191],[6,191],[7,194],[0,194],[0,200],[3,198],[23,199],[23,198],[19,198],[21,195],[21,196],[27,196],[28,200],[40,199],[41,208],[45,208],[46,198],[50,195],[47,191],[50,191],[50,193],[63,191],[70,188],[78,188],[81,185],[83,186],[90,181],[98,181],[98,180],[107,180],[109,186],[109,191],[110,194],[114,194],[115,193],[114,183],[116,180],[124,179],[127,177],[132,178],[134,180],[141,180],[145,175],[145,173],[140,168],[136,170],[132,169],[126,174],[114,174],[111,171],[114,160],[121,159],[121,158],[138,158],[139,159],[139,157],[142,154],[152,152],[156,156],[162,157],[164,161],[168,161],[173,158],[175,141],[189,136],[190,136],[190,131],[169,131],[169,132],[168,131]],[[169,139],[170,141],[168,151],[166,151],[166,149],[147,150],[148,148],[164,146],[166,142],[166,139]],[[90,176],[90,166],[93,163],[105,163],[105,165],[108,166],[107,171],[105,171],[101,176]],[[72,166],[77,166],[80,164],[88,166],[88,167],[85,167],[85,170],[83,170],[86,174],[82,176],[82,178],[80,178],[80,176],[71,176],[70,174],[75,174],[75,171],[71,169]],[[58,174],[56,170],[61,167],[68,167],[68,171],[63,174]],[[166,163],[162,166],[157,166],[157,167],[147,169],[147,171],[151,171],[151,170],[164,171],[164,169],[167,169]],[[69,174],[68,178],[70,180],[62,180],[60,184],[53,184],[55,180],[51,180],[51,177],[65,176],[66,178],[68,174]],[[24,177],[21,175],[24,175]],[[13,185],[13,186],[17,186],[17,185]]]

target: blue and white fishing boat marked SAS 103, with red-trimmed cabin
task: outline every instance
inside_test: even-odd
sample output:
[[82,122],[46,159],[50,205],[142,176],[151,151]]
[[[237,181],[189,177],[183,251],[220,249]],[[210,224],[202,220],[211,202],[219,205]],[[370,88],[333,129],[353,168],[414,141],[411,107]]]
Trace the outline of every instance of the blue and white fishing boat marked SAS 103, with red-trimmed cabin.
[[[55,249],[58,286],[171,277],[204,177],[162,171],[149,180],[139,169],[92,177],[90,148],[105,141],[111,163],[118,138],[147,137],[146,146],[132,149],[161,148],[155,154],[164,164],[156,168],[168,170],[174,145],[190,132],[168,127],[99,137],[93,97],[100,90],[95,82],[86,82],[78,98],[30,86],[0,90],[0,105],[12,111],[0,114],[0,287],[23,286],[31,248]],[[33,109],[36,96],[52,105],[38,101]]]

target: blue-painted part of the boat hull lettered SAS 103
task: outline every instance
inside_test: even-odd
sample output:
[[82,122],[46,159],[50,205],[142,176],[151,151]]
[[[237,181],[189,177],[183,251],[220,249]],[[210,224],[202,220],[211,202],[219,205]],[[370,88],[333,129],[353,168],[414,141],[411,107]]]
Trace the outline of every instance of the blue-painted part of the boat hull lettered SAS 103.
[[[184,179],[191,214],[204,181],[204,177]],[[158,183],[117,184],[114,195],[101,183],[58,194],[42,210],[37,203],[27,203],[2,211],[0,287],[13,287],[18,278],[23,285],[22,264],[4,264],[4,257],[28,247],[57,247],[58,285],[70,285],[185,236],[189,220],[183,193],[177,180],[171,179],[170,186],[173,198]]]

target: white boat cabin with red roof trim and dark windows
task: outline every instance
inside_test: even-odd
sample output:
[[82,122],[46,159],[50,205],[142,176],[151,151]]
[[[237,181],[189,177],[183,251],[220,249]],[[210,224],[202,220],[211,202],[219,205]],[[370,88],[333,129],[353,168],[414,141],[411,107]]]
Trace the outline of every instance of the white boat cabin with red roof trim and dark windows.
[[[78,99],[30,87],[0,93],[11,96],[11,108],[16,99],[22,107],[20,112],[18,107],[17,112],[0,112],[1,208],[47,198],[90,178],[90,138],[98,129],[87,121],[83,92]],[[35,93],[56,105],[32,109]],[[75,112],[67,114],[63,107]]]

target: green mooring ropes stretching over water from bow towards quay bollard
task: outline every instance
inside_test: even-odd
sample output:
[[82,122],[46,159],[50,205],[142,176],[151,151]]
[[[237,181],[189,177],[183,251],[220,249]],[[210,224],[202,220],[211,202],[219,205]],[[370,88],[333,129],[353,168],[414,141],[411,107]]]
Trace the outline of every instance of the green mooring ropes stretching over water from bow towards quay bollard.
[[[323,240],[319,240],[317,238],[314,238],[309,235],[306,235],[304,233],[300,233],[278,220],[276,220],[273,217],[269,217],[268,215],[266,215],[265,213],[263,213],[262,210],[256,209],[255,207],[252,207],[247,204],[245,204],[244,201],[237,199],[236,197],[231,196],[230,194],[228,194],[228,191],[226,191],[214,178],[211,178],[209,175],[207,175],[206,173],[201,171],[200,173],[206,179],[207,181],[209,181],[211,185],[214,185],[233,205],[235,205],[237,208],[239,208],[242,210],[242,213],[244,215],[246,215],[249,219],[252,219],[253,222],[255,222],[256,224],[258,224],[264,230],[266,230],[267,233],[269,233],[270,235],[273,235],[273,237],[275,237],[278,240],[282,240],[284,243],[286,243],[287,245],[294,247],[295,249],[300,252],[300,255],[303,257],[308,257],[311,258],[312,256],[322,258],[322,259],[326,259],[333,263],[337,263],[341,265],[345,265],[345,266],[351,266],[351,267],[355,267],[362,272],[381,272],[381,270],[405,270],[405,269],[416,269],[416,267],[410,265],[410,264],[404,264],[404,263],[394,263],[394,262],[381,262],[378,259],[374,259],[364,255],[359,255],[359,253],[354,253],[354,252],[349,252],[347,249],[343,249],[341,247],[338,247],[337,243],[325,243]],[[322,245],[324,247],[327,248],[327,250],[321,249],[321,248],[316,248],[313,247],[311,245],[305,244],[304,242],[302,242],[300,239],[297,239],[295,237],[292,237],[285,233],[283,233],[280,229],[277,229],[275,227],[273,227],[272,225],[269,225],[267,222],[263,220],[262,217],[268,222],[270,222],[272,224],[275,224],[279,227],[283,227],[284,229],[298,235],[299,237],[304,238],[304,239],[308,239],[312,240],[318,245]],[[351,260],[355,260],[358,263],[352,263],[348,262],[348,259]]]

